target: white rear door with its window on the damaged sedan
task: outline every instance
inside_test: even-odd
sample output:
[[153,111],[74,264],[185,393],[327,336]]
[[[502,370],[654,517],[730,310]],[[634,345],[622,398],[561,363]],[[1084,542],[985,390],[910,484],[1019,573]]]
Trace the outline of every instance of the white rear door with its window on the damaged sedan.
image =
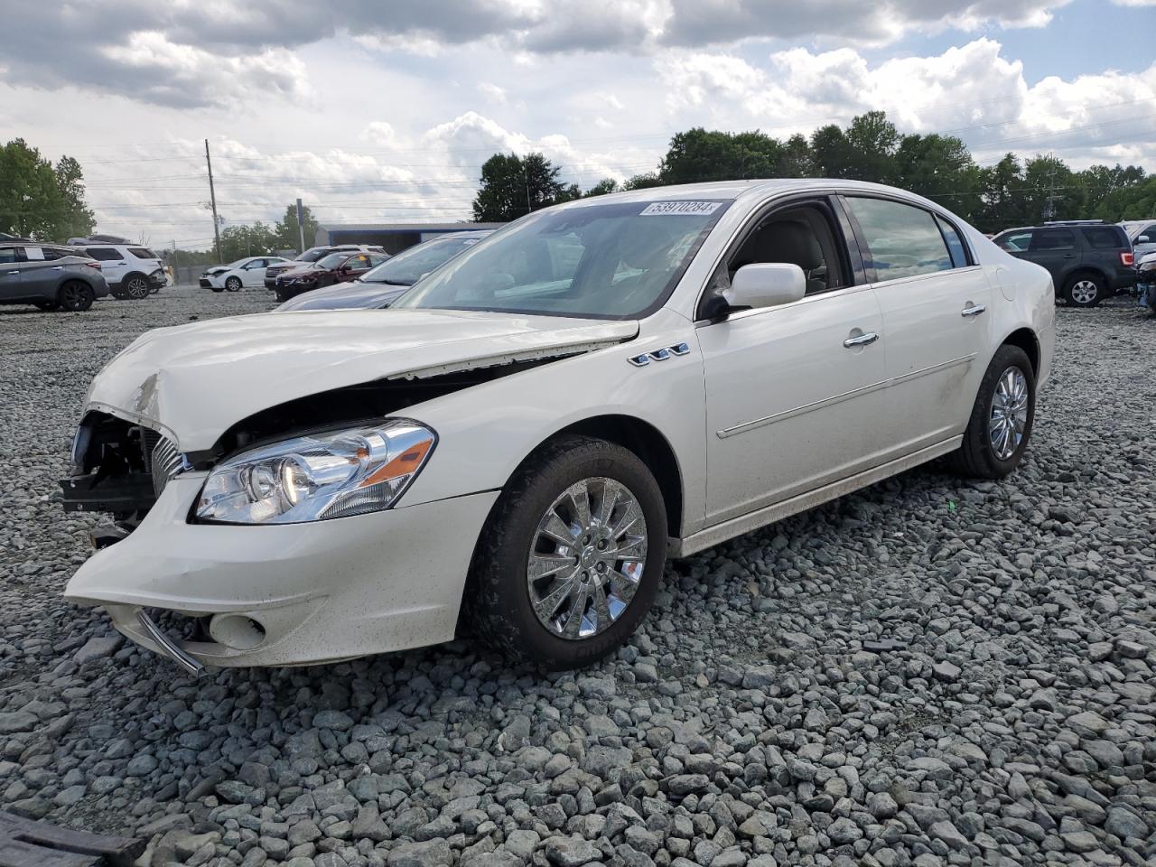
[[845,203],[883,313],[887,413],[877,423],[896,458],[966,427],[990,361],[992,287],[951,221],[887,198]]

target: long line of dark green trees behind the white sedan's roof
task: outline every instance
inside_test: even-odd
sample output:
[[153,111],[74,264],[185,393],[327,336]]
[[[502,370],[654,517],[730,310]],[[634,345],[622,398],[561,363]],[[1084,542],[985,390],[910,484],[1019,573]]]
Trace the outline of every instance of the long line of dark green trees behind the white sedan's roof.
[[954,135],[903,134],[882,111],[846,127],[776,139],[754,131],[695,127],[676,133],[654,171],[624,184],[606,178],[590,190],[560,180],[541,154],[495,154],[483,165],[474,220],[504,222],[548,205],[618,190],[743,178],[845,178],[890,184],[924,195],[978,229],[996,232],[1044,220],[1107,222],[1156,216],[1156,176],[1139,165],[1075,171],[1050,155],[1008,153],[981,165]]

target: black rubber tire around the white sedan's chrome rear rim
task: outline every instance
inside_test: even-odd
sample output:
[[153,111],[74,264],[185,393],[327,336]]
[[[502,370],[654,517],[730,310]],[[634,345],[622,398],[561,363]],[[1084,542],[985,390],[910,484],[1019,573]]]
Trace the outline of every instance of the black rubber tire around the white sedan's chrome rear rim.
[[[1027,386],[1027,421],[1021,438],[1010,453],[1001,454],[992,443],[992,408],[1000,380],[1009,370],[1018,371]],[[1031,428],[1036,421],[1036,373],[1028,361],[1028,354],[1017,346],[1003,344],[987,365],[979,384],[979,394],[971,410],[963,444],[949,457],[951,468],[963,476],[973,479],[1002,479],[1015,469],[1031,440]],[[1010,442],[1008,443],[1010,445]]]

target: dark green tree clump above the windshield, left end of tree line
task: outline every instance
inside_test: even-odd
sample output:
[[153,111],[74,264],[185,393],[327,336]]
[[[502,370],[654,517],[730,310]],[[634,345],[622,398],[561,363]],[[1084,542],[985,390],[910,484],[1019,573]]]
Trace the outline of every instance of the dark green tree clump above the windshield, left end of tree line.
[[541,154],[495,154],[482,164],[474,198],[474,221],[504,223],[557,201],[578,198],[577,186],[564,187],[562,169]]

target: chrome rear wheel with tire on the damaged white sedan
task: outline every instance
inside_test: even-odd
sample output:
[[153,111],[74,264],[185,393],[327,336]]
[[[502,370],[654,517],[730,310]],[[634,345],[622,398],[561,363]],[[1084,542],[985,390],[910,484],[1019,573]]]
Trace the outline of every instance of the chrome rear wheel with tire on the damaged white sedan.
[[979,384],[963,443],[950,455],[961,475],[1002,479],[1018,466],[1036,420],[1036,372],[1027,353],[1001,346]]

